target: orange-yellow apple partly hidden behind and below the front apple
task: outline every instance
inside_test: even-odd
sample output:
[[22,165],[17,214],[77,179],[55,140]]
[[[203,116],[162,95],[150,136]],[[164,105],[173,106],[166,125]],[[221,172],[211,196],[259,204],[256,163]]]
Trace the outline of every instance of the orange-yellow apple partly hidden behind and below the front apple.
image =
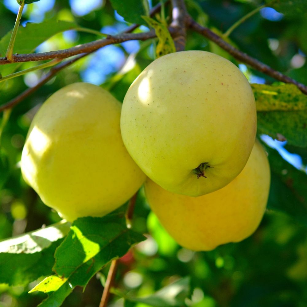
[[256,142],[243,171],[218,191],[198,197],[174,194],[149,178],[144,186],[150,208],[181,246],[210,251],[257,229],[269,195],[270,166]]

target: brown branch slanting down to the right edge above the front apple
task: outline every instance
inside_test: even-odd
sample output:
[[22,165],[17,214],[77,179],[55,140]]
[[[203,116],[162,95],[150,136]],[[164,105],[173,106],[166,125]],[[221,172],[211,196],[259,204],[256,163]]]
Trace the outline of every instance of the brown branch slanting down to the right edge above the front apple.
[[210,29],[202,27],[199,25],[196,21],[192,19],[192,17],[187,17],[188,24],[192,29],[194,29],[196,32],[200,33],[204,37],[207,37],[210,41],[215,42],[217,45],[219,45],[222,49],[226,50],[228,53],[230,53],[234,58],[237,60],[242,61],[243,63],[246,63],[250,65],[251,67],[257,69],[260,72],[265,73],[266,75],[282,81],[284,83],[292,83],[295,84],[302,93],[307,95],[307,86],[297,82],[296,80],[282,74],[281,72],[278,72],[277,70],[274,70],[270,66],[256,60],[255,58],[247,55],[246,53],[236,49],[235,47],[228,44],[226,41],[224,41],[221,37],[216,35],[216,33],[212,32]]

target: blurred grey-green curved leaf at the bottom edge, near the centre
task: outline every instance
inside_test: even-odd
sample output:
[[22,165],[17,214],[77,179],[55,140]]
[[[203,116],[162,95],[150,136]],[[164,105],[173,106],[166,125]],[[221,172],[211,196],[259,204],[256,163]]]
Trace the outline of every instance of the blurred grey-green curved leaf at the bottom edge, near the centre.
[[181,278],[146,297],[132,297],[119,290],[115,290],[114,292],[127,301],[143,303],[155,307],[185,306],[185,299],[190,295],[190,278]]

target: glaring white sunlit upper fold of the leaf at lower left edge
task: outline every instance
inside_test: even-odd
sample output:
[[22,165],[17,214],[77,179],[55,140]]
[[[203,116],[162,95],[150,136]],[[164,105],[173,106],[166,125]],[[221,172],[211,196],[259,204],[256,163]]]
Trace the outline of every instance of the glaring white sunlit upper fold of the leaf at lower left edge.
[[51,226],[0,241],[0,253],[33,254],[48,248],[68,234],[70,223],[62,220]]

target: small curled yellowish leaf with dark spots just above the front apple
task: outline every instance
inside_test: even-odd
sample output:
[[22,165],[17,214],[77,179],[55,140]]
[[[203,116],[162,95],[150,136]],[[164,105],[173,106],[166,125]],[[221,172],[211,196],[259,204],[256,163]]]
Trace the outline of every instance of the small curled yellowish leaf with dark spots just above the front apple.
[[160,56],[164,56],[165,54],[176,52],[176,47],[173,38],[171,37],[169,30],[167,29],[167,25],[165,25],[163,22],[158,22],[153,18],[147,16],[142,16],[142,18],[151,27],[153,27],[159,39],[156,47],[157,58]]

